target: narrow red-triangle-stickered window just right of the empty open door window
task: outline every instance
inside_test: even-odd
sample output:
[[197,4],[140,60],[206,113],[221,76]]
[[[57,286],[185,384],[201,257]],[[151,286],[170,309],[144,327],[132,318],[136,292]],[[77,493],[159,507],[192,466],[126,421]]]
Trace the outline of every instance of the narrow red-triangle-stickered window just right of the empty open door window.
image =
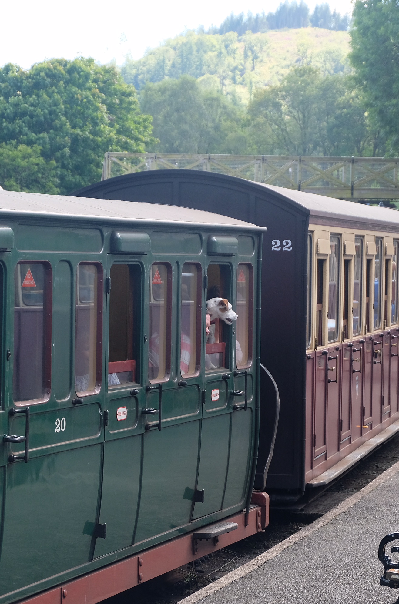
[[150,274],[150,346],[148,377],[162,382],[170,374],[172,269],[153,264]]

